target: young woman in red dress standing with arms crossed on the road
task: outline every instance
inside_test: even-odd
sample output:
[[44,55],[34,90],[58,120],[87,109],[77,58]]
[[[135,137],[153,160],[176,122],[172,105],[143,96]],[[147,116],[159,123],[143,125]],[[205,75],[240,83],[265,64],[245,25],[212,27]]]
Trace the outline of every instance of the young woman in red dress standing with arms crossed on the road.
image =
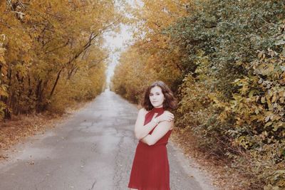
[[168,111],[177,101],[162,81],[145,90],[142,109],[135,122],[135,150],[128,188],[138,190],[170,190],[170,169],[166,144],[173,129],[174,115]]

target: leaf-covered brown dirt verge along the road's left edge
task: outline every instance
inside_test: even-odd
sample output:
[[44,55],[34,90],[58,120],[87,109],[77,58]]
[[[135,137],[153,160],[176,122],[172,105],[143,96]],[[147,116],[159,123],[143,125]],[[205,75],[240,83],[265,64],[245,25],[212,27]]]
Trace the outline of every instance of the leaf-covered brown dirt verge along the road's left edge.
[[0,122],[0,161],[8,160],[9,153],[16,151],[14,145],[24,142],[27,137],[44,134],[46,130],[61,125],[73,113],[82,110],[89,102],[81,102],[66,109],[64,115],[48,113],[17,115],[11,120]]

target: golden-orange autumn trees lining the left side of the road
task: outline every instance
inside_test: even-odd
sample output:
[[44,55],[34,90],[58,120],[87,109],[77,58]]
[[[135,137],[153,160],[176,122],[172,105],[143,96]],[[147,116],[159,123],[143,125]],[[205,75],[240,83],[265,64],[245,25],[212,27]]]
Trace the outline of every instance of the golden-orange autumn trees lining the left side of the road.
[[63,112],[105,83],[102,33],[118,22],[113,1],[0,2],[0,115]]

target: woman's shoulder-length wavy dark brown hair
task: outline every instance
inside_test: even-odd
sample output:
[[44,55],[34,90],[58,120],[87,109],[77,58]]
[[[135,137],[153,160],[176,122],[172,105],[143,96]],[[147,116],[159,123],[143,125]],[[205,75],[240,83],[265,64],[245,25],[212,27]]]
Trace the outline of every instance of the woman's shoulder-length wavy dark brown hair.
[[170,88],[165,85],[165,83],[163,83],[161,80],[155,81],[155,83],[152,83],[152,85],[145,89],[145,96],[141,102],[142,107],[145,107],[145,110],[152,110],[153,106],[150,102],[150,90],[155,86],[160,87],[163,95],[165,96],[165,100],[163,101],[163,107],[165,108],[165,110],[175,110],[177,108],[177,100],[174,97]]

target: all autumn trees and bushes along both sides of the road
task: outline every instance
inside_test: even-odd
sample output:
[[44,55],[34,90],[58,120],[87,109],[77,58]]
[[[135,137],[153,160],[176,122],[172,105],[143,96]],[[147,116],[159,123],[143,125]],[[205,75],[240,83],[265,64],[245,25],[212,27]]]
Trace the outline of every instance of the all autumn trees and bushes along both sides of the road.
[[0,1],[1,120],[61,115],[102,93],[110,56],[103,33],[124,23],[134,42],[111,90],[139,104],[150,83],[164,81],[178,100],[181,136],[229,163],[247,179],[243,189],[284,189],[285,1],[141,0],[124,8],[128,17],[116,6]]

